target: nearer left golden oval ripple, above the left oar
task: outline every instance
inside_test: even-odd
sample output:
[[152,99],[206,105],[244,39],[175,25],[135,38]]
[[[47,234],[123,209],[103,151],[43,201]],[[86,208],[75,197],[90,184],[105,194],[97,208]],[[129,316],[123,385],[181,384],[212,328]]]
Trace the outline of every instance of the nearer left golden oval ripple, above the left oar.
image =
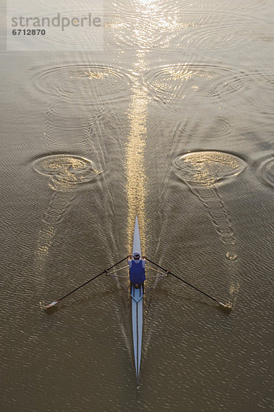
[[73,155],[51,155],[34,162],[34,170],[50,176],[53,190],[62,192],[75,188],[79,183],[87,183],[101,173],[93,167],[92,161]]

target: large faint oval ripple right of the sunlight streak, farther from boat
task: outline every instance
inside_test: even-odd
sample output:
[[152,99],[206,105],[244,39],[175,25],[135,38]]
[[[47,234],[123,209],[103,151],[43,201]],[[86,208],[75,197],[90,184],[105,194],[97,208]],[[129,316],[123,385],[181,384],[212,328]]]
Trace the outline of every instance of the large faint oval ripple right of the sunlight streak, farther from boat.
[[214,97],[244,89],[234,70],[213,65],[168,65],[147,72],[147,88],[156,100],[182,100],[190,93]]

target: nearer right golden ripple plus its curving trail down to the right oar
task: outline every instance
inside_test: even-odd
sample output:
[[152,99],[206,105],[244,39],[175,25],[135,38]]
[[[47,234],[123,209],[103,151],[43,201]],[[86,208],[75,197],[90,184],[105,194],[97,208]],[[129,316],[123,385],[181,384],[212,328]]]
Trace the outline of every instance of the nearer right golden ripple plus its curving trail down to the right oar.
[[229,293],[236,296],[239,290],[238,277],[234,267],[238,259],[236,236],[218,186],[240,174],[245,169],[246,163],[229,153],[212,150],[190,152],[179,156],[175,160],[175,166],[177,167],[177,175],[206,208],[214,230],[226,247],[225,259],[230,281]]

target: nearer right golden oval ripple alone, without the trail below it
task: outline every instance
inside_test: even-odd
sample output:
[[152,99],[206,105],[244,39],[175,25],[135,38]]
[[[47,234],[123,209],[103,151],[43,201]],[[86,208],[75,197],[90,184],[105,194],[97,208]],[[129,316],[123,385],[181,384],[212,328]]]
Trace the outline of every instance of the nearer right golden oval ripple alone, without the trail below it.
[[210,186],[246,168],[246,163],[230,153],[208,150],[189,152],[175,160],[177,174],[188,182],[199,186]]

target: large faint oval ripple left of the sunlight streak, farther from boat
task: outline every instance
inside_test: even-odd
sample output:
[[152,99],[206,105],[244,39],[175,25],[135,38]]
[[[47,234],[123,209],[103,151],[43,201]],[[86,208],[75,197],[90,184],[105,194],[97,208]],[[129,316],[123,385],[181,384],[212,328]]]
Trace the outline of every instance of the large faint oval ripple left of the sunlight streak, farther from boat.
[[125,98],[129,89],[127,73],[97,65],[49,67],[32,76],[41,93],[88,105]]

